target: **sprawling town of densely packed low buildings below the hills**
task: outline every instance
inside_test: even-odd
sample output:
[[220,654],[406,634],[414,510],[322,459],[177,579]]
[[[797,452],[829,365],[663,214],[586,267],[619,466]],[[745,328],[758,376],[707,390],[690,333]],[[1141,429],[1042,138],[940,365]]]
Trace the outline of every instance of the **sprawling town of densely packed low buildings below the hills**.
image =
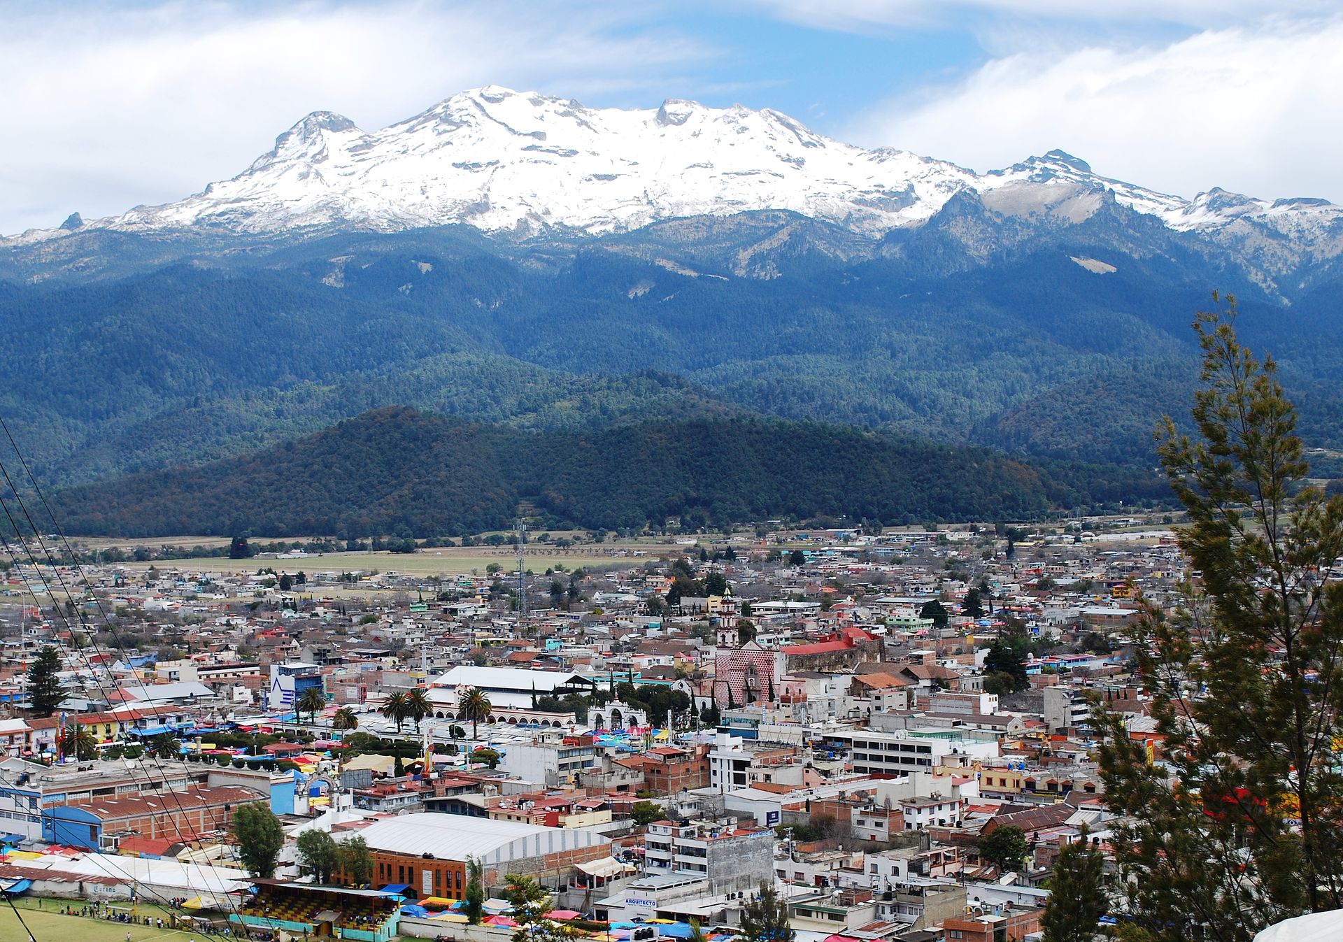
[[257,938],[1038,938],[1058,853],[1109,852],[1092,711],[1162,757],[1124,629],[1190,578],[1171,523],[573,534],[544,573],[502,534],[432,576],[11,539],[0,880]]

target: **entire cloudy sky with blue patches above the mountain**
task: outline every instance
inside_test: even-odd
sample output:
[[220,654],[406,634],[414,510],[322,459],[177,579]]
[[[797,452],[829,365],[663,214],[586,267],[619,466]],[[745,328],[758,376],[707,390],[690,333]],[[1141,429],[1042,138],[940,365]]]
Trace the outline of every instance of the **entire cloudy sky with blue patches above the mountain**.
[[309,111],[372,129],[492,83],[1343,201],[1340,48],[1336,0],[0,0],[0,232],[197,192]]

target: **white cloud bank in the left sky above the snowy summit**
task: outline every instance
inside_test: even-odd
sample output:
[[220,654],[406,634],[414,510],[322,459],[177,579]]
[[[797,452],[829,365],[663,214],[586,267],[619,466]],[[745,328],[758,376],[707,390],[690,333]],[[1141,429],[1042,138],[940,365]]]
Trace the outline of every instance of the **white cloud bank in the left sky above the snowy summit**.
[[313,110],[379,127],[488,83],[653,97],[708,52],[603,3],[7,9],[0,232],[180,199]]

